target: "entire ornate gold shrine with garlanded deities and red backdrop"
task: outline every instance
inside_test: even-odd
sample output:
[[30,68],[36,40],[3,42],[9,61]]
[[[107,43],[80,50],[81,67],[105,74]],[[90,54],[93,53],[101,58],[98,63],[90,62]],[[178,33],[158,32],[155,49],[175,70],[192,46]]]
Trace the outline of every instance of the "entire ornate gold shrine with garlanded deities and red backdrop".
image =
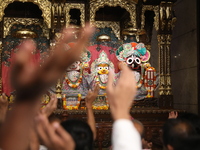
[[[10,66],[21,41],[32,38],[37,44],[34,63],[42,65],[60,37],[63,27],[78,31],[90,21],[96,31],[80,61],[72,64],[41,100],[42,106],[56,93],[57,110],[62,120],[85,120],[85,96],[99,84],[93,109],[96,118],[95,147],[111,145],[111,123],[106,83],[109,70],[120,77],[120,64],[128,65],[137,80],[137,96],[131,115],[143,122],[145,138],[160,148],[160,127],[173,109],[171,89],[170,44],[176,22],[176,0],[3,0],[0,1],[0,92],[6,93],[10,109],[15,91],[9,84]],[[153,40],[154,37],[154,40]],[[73,46],[73,41],[68,47]],[[130,83],[131,84],[131,83]],[[181,110],[177,110],[183,112]]]

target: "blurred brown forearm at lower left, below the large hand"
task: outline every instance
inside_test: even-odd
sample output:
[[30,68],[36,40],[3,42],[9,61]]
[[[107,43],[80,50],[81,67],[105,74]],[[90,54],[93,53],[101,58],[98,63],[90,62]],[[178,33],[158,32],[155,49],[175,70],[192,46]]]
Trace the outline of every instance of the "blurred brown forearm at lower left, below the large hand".
[[33,118],[38,110],[34,103],[14,104],[1,127],[0,148],[5,150],[27,149]]

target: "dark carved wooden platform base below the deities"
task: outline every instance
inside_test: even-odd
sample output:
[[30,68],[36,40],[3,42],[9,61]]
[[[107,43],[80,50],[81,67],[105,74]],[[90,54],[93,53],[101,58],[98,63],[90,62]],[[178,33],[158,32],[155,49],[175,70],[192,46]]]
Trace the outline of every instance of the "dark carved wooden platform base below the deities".
[[[93,110],[97,128],[97,139],[95,148],[98,150],[109,149],[111,146],[112,117],[110,110]],[[144,137],[153,143],[153,150],[162,150],[162,126],[168,119],[169,112],[177,111],[179,115],[185,113],[184,110],[154,108],[132,108],[130,114],[133,118],[141,121],[145,127]],[[86,110],[63,110],[57,109],[54,115],[62,121],[67,119],[81,119],[86,121]]]

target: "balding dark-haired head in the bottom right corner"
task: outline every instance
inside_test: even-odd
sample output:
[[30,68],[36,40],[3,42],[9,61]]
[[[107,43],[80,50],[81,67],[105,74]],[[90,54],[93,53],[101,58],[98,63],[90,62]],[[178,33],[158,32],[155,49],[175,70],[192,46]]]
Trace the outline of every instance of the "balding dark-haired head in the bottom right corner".
[[194,144],[194,141],[199,139],[195,128],[186,120],[168,119],[163,126],[165,147],[171,145],[174,150],[197,150],[200,144]]

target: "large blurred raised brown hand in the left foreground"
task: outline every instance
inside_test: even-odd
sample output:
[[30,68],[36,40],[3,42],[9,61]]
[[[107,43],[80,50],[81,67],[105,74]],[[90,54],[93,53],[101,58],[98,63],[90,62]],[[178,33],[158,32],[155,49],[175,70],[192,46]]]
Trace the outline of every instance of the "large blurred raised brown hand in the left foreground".
[[33,64],[31,52],[36,48],[32,40],[24,41],[12,66],[11,81],[17,91],[17,100],[37,99],[50,85],[61,77],[65,69],[78,60],[82,50],[87,46],[89,37],[93,33],[89,25],[80,32],[76,44],[69,48],[74,30],[64,29],[62,37],[54,47],[53,54],[39,67]]

